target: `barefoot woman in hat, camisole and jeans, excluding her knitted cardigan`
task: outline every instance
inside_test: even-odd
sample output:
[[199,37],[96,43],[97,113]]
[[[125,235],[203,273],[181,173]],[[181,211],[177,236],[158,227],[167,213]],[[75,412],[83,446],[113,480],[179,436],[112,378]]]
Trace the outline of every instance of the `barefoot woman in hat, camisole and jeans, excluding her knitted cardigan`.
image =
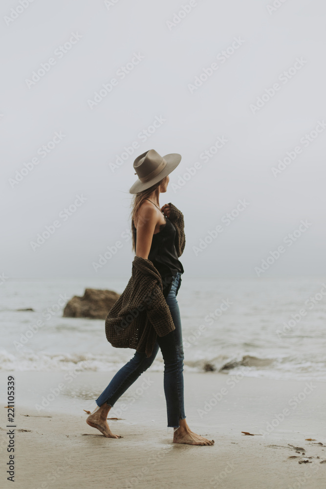
[[[131,213],[133,250],[136,252],[136,257],[150,260],[155,267],[154,270],[156,269],[155,271],[160,274],[163,295],[175,328],[164,336],[157,336],[150,356],[145,352],[136,351],[133,358],[117,372],[96,400],[98,407],[88,416],[87,424],[97,428],[108,438],[121,438],[109,429],[107,422],[109,410],[128,387],[152,365],[160,348],[164,360],[164,392],[168,426],[174,427],[174,443],[214,445],[214,440],[197,435],[191,431],[186,422],[183,399],[184,355],[180,311],[176,300],[181,274],[184,271],[178,256],[183,251],[185,240],[183,239],[181,245],[177,243],[176,227],[173,220],[169,219],[172,218],[172,208],[174,211],[178,209],[170,205],[171,203],[163,205],[162,208],[159,206],[159,194],[167,191],[170,179],[168,175],[180,160],[181,156],[178,154],[162,157],[156,151],[150,150],[138,156],[133,163],[139,177],[130,188],[130,193],[136,194]],[[180,215],[182,216],[181,213]],[[178,229],[181,234],[181,227]]]

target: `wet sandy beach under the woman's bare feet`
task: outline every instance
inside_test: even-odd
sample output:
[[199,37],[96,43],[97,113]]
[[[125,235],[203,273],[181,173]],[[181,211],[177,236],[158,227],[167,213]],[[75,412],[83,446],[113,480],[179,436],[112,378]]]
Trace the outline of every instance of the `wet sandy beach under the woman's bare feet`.
[[[1,372],[2,385],[8,374]],[[185,373],[187,422],[215,440],[192,446],[172,442],[163,373],[145,372],[109,412],[122,418],[109,421],[120,439],[88,426],[84,411],[112,373],[81,372],[73,379],[63,372],[10,374],[17,390],[15,487],[325,489],[323,382]],[[9,484],[4,412],[1,487]]]

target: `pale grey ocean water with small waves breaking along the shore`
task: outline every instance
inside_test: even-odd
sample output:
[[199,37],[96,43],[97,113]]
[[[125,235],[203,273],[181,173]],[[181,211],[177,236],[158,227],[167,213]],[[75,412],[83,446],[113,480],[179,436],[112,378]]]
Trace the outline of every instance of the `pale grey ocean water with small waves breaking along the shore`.
[[[113,348],[104,320],[65,318],[85,288],[121,293],[125,279],[8,279],[0,285],[0,370],[117,371],[134,354]],[[177,300],[184,370],[326,381],[326,278],[193,279]],[[32,308],[34,311],[18,311]],[[163,371],[159,351],[151,367]]]

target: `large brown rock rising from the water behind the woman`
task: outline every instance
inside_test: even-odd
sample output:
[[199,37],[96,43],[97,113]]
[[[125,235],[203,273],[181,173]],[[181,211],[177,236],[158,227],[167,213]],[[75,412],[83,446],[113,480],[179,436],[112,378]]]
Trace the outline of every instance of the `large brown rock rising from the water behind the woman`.
[[67,302],[63,316],[105,319],[119,297],[112,290],[85,289],[83,297],[75,295]]

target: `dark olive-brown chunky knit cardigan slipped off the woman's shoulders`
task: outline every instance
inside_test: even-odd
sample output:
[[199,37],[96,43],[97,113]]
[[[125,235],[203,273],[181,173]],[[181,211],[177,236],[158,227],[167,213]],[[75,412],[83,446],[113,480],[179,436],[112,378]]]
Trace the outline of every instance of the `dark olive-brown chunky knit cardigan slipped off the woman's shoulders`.
[[[177,256],[185,247],[182,212],[169,202],[168,218],[175,227]],[[105,320],[107,340],[116,348],[134,348],[151,356],[158,336],[175,330],[170,308],[163,295],[162,278],[151,260],[135,256],[126,289],[113,304]]]

